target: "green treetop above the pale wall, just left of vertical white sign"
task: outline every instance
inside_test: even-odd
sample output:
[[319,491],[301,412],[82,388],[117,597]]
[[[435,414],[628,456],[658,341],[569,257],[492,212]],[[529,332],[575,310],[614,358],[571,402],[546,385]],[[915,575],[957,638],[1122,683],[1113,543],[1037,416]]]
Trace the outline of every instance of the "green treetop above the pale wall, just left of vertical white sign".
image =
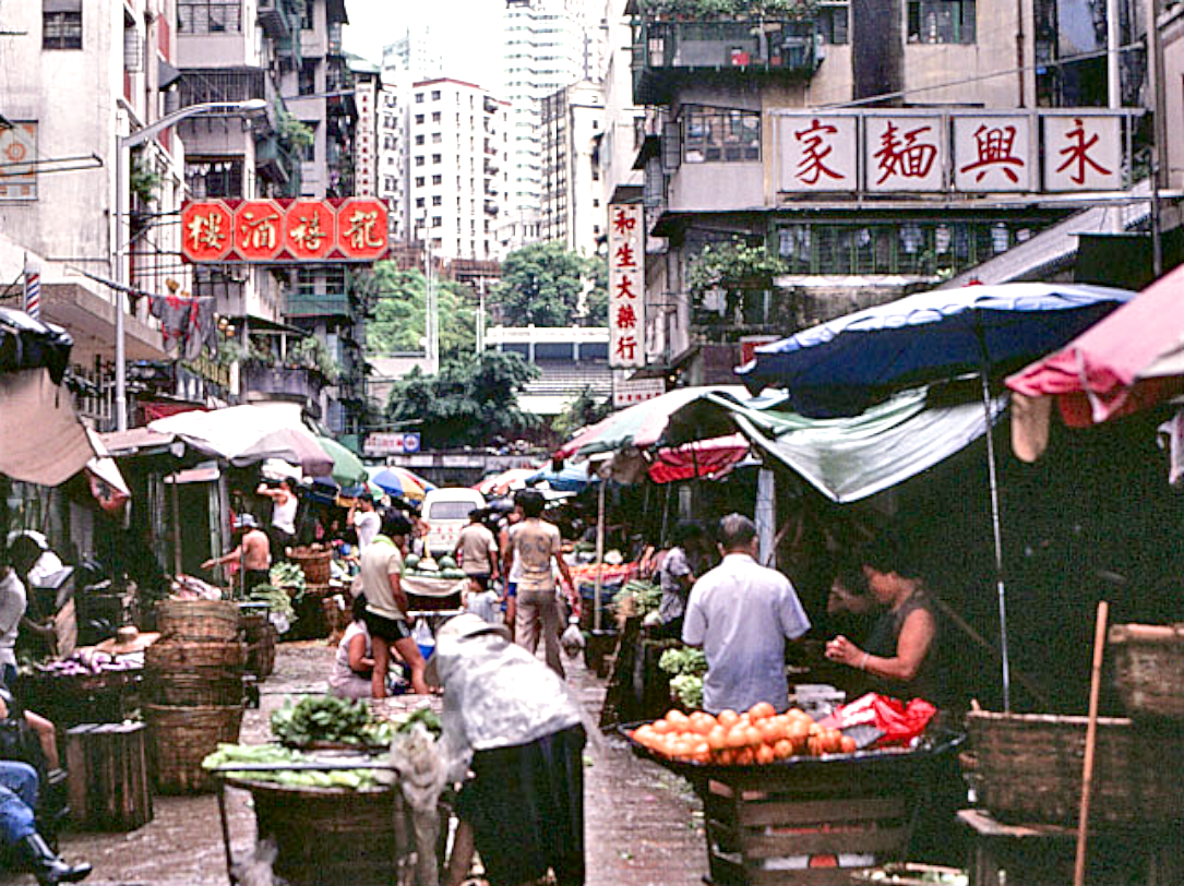
[[[502,263],[502,281],[493,294],[502,322],[603,326],[607,319],[607,296],[596,295],[596,282],[600,278],[598,262],[603,259],[570,252],[559,240],[532,243],[511,252]],[[593,298],[581,304],[590,285]]]

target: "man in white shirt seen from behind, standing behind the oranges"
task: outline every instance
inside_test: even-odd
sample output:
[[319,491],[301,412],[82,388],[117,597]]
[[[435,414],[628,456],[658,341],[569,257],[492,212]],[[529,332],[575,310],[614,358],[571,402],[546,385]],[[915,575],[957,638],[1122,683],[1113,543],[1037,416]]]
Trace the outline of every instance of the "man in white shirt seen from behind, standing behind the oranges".
[[810,630],[790,579],[757,563],[757,527],[740,514],[720,520],[723,563],[700,578],[687,602],[684,643],[707,655],[703,710],[747,711],[758,701],[789,708],[785,641]]

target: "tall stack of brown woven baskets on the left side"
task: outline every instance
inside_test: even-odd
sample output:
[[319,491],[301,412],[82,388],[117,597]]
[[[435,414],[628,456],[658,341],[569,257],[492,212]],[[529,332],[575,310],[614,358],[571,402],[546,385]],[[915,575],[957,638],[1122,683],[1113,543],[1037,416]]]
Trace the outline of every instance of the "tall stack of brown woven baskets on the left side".
[[243,723],[242,640],[232,601],[161,601],[161,638],[144,653],[146,705],[156,788],[188,794],[213,787],[201,760],[219,741],[237,741]]

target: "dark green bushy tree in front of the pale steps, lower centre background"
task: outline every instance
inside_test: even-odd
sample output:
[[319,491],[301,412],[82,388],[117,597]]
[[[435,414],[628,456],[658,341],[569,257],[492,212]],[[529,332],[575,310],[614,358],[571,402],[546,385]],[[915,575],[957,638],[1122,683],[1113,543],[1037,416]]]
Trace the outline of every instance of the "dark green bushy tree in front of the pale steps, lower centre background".
[[420,420],[424,445],[481,447],[535,425],[517,404],[539,371],[519,354],[487,351],[444,360],[437,375],[419,370],[394,384],[386,413],[392,422]]

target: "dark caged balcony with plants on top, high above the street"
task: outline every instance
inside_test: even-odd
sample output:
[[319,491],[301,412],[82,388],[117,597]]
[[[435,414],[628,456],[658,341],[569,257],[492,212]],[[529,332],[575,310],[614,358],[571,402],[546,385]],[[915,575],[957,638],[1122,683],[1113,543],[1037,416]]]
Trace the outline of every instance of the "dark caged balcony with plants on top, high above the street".
[[682,86],[736,77],[806,78],[818,66],[815,23],[633,21],[633,101],[667,104]]

